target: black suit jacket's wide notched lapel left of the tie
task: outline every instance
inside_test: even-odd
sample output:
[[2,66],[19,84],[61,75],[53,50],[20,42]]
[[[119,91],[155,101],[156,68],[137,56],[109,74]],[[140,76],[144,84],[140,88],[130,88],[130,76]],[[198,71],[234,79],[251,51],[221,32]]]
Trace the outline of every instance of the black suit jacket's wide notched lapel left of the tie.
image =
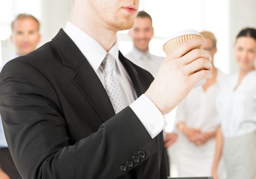
[[63,65],[75,70],[71,79],[72,82],[90,101],[102,120],[106,121],[113,117],[115,111],[108,94],[106,94],[97,74],[76,44],[62,29],[52,41],[61,54]]

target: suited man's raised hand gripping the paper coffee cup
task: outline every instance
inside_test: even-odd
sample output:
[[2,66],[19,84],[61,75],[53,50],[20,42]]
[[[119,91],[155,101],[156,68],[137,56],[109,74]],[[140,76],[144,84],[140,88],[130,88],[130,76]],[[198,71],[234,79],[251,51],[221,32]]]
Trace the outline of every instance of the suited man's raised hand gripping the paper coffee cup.
[[212,77],[211,56],[198,49],[205,43],[204,38],[188,39],[163,60],[145,92],[163,115],[174,109],[199,81]]

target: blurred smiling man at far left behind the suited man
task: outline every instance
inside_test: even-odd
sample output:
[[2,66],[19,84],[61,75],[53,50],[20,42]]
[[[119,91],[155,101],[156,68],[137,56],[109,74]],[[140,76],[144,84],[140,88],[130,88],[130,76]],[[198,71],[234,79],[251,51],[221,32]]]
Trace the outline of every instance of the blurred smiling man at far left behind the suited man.
[[[26,55],[36,49],[41,36],[39,33],[40,23],[34,16],[30,14],[17,15],[11,23],[11,29],[10,40],[14,44],[16,52],[10,59]],[[2,120],[0,120],[0,148],[0,179],[21,178],[5,140]]]

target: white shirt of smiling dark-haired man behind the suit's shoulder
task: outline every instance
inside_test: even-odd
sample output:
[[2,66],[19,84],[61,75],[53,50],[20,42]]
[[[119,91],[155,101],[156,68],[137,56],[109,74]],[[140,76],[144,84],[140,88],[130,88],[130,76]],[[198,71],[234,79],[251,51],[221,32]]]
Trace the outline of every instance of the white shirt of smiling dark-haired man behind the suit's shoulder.
[[164,57],[152,55],[149,51],[141,52],[136,47],[133,47],[131,52],[127,53],[125,57],[140,66],[142,69],[150,72],[154,77],[156,76],[164,59]]

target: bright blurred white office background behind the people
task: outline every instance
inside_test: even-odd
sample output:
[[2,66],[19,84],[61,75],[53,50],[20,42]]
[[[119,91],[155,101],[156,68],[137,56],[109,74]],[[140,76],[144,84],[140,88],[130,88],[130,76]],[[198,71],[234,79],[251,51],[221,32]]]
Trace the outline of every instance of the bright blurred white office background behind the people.
[[[72,0],[0,0],[0,65],[14,54],[9,37],[11,21],[19,13],[29,13],[40,20],[40,45],[51,40],[63,28],[71,12]],[[151,53],[165,56],[162,46],[166,37],[184,29],[208,30],[217,37],[216,66],[226,74],[237,72],[232,45],[244,27],[256,28],[255,0],[140,0],[140,9],[153,18],[155,36]],[[132,48],[128,31],[118,33],[123,54]],[[175,109],[168,115],[166,131],[172,131]],[[174,174],[175,175],[175,174]]]

